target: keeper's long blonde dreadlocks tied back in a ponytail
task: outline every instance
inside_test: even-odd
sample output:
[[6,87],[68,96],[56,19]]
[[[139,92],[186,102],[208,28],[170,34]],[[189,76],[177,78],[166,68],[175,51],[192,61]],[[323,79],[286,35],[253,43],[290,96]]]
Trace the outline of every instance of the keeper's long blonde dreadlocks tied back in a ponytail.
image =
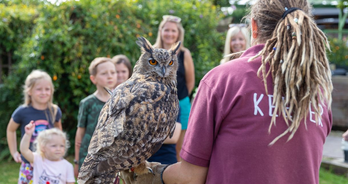
[[[291,7],[302,10],[292,11],[282,18],[284,11]],[[316,112],[316,122],[320,118],[319,102],[325,103],[329,110],[331,107],[331,72],[326,58],[329,43],[310,11],[307,0],[259,0],[251,8],[251,17],[258,24],[257,41],[266,41],[266,44],[249,61],[261,56],[258,76],[262,73],[267,94],[266,78],[270,73],[273,78],[275,111],[268,133],[276,124],[277,112],[281,112],[288,126],[269,145],[291,133],[289,141],[302,119],[307,129],[309,105]],[[266,71],[267,63],[270,65],[269,71]]]

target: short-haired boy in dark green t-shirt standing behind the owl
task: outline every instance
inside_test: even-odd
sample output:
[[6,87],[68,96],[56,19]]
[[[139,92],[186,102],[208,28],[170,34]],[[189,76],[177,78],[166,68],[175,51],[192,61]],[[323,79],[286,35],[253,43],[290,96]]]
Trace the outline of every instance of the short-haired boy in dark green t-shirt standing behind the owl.
[[88,70],[90,74],[89,79],[97,87],[97,90],[82,99],[79,105],[75,136],[75,177],[78,176],[82,163],[87,156],[89,142],[97,126],[100,111],[110,97],[103,87],[109,87],[113,90],[117,82],[116,67],[110,58],[95,58],[90,63]]

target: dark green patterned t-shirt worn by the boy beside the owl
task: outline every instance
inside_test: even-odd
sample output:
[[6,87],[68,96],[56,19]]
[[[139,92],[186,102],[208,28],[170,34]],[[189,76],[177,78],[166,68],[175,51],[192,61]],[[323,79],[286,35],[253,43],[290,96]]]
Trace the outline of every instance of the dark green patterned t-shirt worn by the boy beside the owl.
[[84,162],[90,139],[92,139],[95,127],[97,126],[100,111],[105,102],[100,101],[93,94],[82,99],[79,105],[79,115],[77,117],[77,127],[86,128],[84,137],[82,138],[79,153],[79,169]]

